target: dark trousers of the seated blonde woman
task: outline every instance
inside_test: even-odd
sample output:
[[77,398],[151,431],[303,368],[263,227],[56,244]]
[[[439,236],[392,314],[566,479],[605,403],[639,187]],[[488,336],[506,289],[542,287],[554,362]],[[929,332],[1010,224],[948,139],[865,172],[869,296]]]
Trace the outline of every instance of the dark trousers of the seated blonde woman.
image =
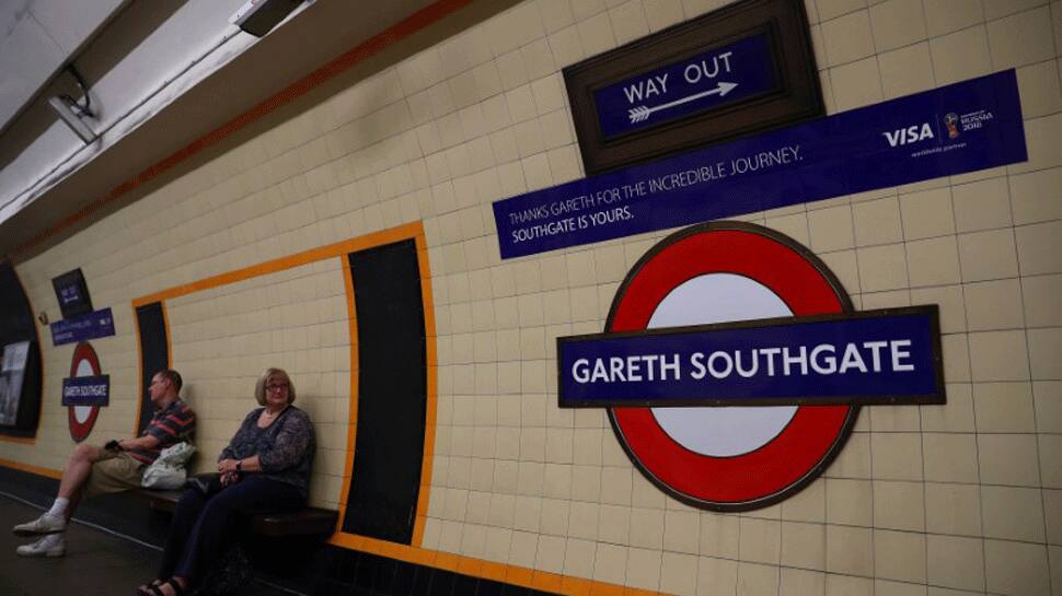
[[197,584],[234,540],[230,523],[233,514],[282,512],[304,505],[299,489],[261,476],[245,477],[209,498],[188,489],[177,501],[159,577],[177,575]]

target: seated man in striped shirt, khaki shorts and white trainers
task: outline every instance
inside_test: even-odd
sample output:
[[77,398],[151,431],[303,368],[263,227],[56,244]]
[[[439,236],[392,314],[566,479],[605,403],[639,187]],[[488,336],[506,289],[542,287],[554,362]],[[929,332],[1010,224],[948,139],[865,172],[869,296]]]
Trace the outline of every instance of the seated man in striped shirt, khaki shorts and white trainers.
[[139,488],[145,468],[159,457],[159,453],[192,435],[195,414],[177,396],[181,383],[181,375],[170,369],[151,378],[148,392],[155,412],[139,437],[112,441],[106,447],[82,443],[73,449],[51,509],[33,522],[14,527],[19,536],[45,535],[32,545],[19,547],[20,556],[66,554],[62,533],[82,496]]

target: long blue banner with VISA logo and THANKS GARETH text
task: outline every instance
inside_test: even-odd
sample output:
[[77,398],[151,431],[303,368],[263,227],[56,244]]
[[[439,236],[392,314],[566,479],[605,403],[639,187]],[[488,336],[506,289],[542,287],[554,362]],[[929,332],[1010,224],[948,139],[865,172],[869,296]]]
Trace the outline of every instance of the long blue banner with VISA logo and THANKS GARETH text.
[[1028,159],[1014,70],[494,203],[501,258]]

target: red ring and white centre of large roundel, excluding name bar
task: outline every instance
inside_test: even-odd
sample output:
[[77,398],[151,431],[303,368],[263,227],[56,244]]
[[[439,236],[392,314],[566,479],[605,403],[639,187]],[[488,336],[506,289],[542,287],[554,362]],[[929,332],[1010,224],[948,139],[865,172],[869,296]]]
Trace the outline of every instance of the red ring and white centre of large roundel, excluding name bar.
[[[852,313],[827,267],[788,237],[746,223],[668,236],[616,292],[609,334]],[[623,448],[672,496],[717,511],[770,505],[813,480],[844,445],[859,406],[612,407]]]

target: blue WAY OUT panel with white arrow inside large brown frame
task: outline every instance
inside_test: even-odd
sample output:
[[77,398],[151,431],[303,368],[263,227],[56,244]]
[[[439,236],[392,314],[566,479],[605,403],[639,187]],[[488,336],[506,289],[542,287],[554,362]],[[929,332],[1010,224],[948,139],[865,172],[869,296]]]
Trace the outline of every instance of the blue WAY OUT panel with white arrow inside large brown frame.
[[761,33],[593,92],[605,140],[778,86],[769,34]]

